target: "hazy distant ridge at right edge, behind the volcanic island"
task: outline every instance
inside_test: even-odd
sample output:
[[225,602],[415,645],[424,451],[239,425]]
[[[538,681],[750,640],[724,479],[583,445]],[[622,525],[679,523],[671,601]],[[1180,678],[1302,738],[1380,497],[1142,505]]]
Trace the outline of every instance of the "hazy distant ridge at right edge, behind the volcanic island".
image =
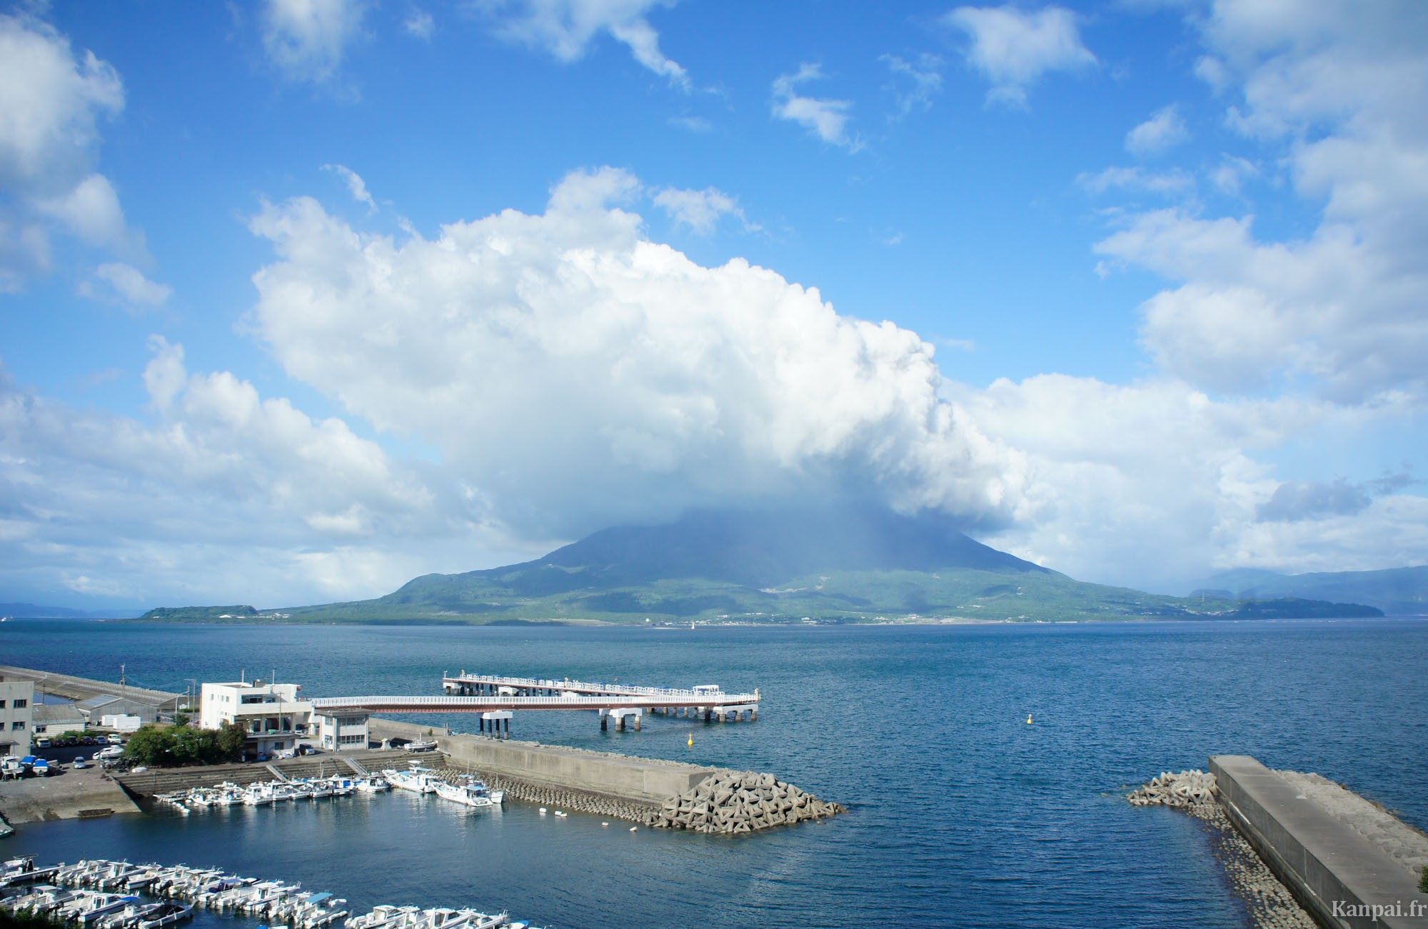
[[1364,603],[1392,615],[1428,613],[1428,565],[1314,575],[1237,569],[1202,580],[1200,589],[1238,600],[1305,597]]

